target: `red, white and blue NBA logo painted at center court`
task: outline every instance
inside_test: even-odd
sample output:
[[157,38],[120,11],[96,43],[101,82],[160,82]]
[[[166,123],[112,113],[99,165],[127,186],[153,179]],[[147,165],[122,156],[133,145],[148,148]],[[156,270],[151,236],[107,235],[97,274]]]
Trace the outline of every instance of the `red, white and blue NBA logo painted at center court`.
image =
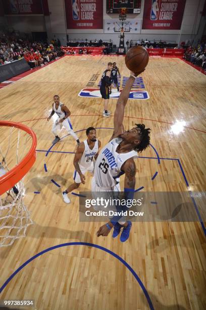
[[[110,95],[111,99],[118,99],[120,96],[120,92],[112,92]],[[79,94],[79,97],[87,97],[87,98],[101,98],[99,88],[83,88]],[[149,99],[149,94],[144,90],[131,90],[129,94],[129,99],[141,99],[146,100]]]

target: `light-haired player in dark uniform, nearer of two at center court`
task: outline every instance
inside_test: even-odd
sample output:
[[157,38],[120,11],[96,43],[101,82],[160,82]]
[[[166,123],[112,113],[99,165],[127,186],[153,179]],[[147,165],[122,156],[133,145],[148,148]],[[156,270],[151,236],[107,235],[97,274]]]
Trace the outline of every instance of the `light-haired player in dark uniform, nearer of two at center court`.
[[104,73],[101,76],[101,86],[100,86],[101,98],[105,99],[103,116],[107,118],[110,117],[110,111],[108,111],[108,102],[110,98],[110,86],[112,84],[111,83],[112,67],[113,67],[112,62],[108,62],[108,68],[107,70],[104,71]]

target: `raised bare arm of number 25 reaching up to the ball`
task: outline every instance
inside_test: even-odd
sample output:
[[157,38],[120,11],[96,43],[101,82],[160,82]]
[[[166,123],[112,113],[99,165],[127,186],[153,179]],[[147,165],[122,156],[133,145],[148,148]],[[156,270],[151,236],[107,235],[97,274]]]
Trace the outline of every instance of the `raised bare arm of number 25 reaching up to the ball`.
[[130,72],[131,75],[129,79],[127,80],[127,83],[125,84],[125,87],[121,91],[120,97],[117,101],[117,106],[116,106],[115,115],[114,115],[114,133],[113,133],[112,138],[115,138],[121,135],[122,133],[124,133],[123,119],[124,119],[125,106],[127,104],[129,93],[134,83],[135,76],[139,75],[143,71],[144,70],[136,72],[136,73],[133,73],[131,71]]

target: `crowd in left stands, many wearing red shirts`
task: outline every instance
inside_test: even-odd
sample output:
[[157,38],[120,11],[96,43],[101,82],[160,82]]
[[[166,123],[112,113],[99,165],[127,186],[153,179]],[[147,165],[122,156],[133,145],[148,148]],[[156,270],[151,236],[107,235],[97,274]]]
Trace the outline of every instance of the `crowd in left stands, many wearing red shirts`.
[[24,58],[31,68],[43,66],[64,55],[57,45],[54,40],[49,44],[3,35],[0,37],[0,65]]

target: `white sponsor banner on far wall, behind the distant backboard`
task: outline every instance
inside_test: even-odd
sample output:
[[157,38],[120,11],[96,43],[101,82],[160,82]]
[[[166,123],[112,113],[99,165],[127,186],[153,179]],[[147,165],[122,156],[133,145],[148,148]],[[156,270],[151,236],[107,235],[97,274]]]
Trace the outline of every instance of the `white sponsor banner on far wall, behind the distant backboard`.
[[[104,33],[116,33],[121,30],[121,21],[119,19],[105,19],[104,20]],[[124,31],[128,33],[140,33],[141,31],[141,19],[127,19],[124,21]],[[127,35],[127,33],[125,33]]]

